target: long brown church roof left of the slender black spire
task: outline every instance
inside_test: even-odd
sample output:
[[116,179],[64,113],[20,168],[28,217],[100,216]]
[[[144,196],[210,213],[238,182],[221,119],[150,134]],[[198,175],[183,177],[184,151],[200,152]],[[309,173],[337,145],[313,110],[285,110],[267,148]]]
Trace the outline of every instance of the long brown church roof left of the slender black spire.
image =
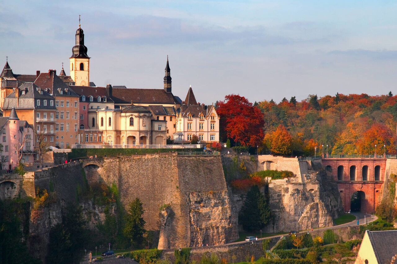
[[112,88],[112,98],[114,103],[177,103],[177,100],[172,93],[168,93],[164,89],[135,89],[115,87],[118,86],[113,86]]

